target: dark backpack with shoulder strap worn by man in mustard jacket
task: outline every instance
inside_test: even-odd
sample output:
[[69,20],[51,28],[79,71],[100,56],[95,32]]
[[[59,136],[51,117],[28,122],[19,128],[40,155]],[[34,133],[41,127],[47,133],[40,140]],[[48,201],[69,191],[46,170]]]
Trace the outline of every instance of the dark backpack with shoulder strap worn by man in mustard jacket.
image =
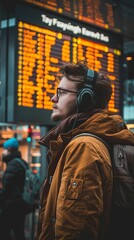
[[103,139],[94,134],[81,133],[74,138],[79,136],[97,138],[108,148],[113,171],[113,207],[134,210],[134,146],[115,144],[110,149]]

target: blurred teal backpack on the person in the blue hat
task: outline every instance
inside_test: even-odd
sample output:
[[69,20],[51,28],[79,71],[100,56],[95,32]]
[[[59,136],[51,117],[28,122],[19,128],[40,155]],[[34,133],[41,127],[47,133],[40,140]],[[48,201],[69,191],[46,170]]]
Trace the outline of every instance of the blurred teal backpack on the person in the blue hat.
[[25,169],[25,180],[24,180],[24,191],[23,191],[23,199],[29,205],[37,204],[39,201],[39,193],[40,193],[40,179],[37,174],[34,174],[29,166],[26,166],[25,163],[16,158],[21,166]]

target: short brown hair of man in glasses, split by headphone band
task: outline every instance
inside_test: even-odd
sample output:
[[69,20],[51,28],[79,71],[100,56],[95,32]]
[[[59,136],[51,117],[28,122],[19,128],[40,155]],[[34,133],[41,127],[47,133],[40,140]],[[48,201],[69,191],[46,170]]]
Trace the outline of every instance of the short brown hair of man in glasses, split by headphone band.
[[[61,66],[60,73],[71,81],[76,81],[77,88],[80,90],[85,85],[88,65],[85,62],[66,63]],[[93,85],[96,97],[95,108],[104,109],[112,95],[111,81],[108,76],[97,72],[96,82]]]

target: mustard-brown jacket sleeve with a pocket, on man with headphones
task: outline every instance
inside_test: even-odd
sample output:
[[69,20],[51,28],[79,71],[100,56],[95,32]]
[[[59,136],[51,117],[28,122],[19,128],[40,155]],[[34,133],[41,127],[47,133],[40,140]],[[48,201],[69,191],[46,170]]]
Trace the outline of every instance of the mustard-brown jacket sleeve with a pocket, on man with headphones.
[[65,165],[57,199],[56,239],[96,240],[105,195],[111,193],[109,153],[98,140],[92,144],[89,137],[79,137],[70,142],[61,158]]

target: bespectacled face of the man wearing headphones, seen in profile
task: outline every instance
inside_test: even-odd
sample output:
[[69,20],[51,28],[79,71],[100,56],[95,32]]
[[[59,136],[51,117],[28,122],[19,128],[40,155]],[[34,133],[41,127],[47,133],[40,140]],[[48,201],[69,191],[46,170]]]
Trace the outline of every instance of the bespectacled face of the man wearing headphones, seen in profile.
[[51,119],[61,121],[76,113],[76,83],[63,77],[58,85],[57,93],[52,97],[53,112]]

